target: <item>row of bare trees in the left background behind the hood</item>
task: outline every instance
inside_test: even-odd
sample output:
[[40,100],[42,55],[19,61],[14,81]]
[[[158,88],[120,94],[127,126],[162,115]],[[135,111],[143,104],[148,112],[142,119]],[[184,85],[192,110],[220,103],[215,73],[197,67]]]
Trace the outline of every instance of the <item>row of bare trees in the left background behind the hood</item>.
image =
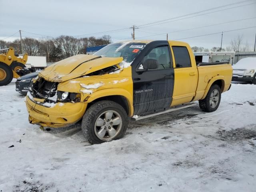
[[[111,36],[101,38],[74,38],[73,36],[59,36],[58,38],[24,38],[23,52],[30,56],[46,56],[47,62],[57,62],[76,54],[86,54],[86,48],[111,43]],[[0,49],[12,46],[16,54],[21,52],[20,39],[12,42],[0,40]]]

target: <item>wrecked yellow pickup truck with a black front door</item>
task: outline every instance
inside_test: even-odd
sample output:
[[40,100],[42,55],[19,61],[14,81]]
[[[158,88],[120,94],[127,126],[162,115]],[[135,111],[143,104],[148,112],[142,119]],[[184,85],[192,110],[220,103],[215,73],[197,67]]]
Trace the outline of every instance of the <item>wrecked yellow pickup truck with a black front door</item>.
[[117,42],[47,67],[25,101],[30,123],[58,128],[82,119],[84,136],[97,144],[122,138],[129,117],[149,118],[197,100],[213,112],[231,78],[231,64],[196,64],[184,42]]

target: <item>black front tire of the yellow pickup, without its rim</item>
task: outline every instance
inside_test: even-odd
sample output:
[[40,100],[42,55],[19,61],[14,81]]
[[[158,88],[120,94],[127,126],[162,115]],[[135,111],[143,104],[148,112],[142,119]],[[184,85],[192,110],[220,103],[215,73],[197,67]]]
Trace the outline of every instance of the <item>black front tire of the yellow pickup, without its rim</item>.
[[[96,120],[100,117],[100,115],[108,110],[113,110],[120,115],[121,128],[119,128],[119,131],[114,136],[114,138],[111,138],[109,140],[102,140],[96,135],[96,133],[94,131],[94,125],[96,126]],[[86,110],[86,112],[83,116],[83,119],[82,119],[82,132],[83,132],[86,140],[88,140],[92,144],[100,144],[100,143],[107,142],[110,140],[117,140],[117,139],[122,138],[126,132],[127,117],[128,116],[127,116],[126,111],[120,104],[113,102],[113,101],[109,101],[109,100],[99,101],[99,102],[96,102],[95,104],[92,104],[92,106],[90,106],[88,108],[88,110]],[[111,123],[111,120],[110,120],[110,123]],[[110,128],[110,127],[108,127],[108,128]],[[104,129],[108,129],[108,128],[104,127]],[[106,130],[105,132],[106,132],[106,134],[108,134],[107,133],[108,130]],[[105,134],[105,136],[106,136],[106,134]]]

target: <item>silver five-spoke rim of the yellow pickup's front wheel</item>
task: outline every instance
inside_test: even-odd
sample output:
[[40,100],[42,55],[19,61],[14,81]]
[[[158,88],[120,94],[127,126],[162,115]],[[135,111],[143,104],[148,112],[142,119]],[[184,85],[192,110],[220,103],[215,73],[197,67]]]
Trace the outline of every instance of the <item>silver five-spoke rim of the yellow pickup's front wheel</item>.
[[122,128],[122,118],[114,110],[107,110],[100,114],[94,124],[94,133],[102,141],[115,138]]

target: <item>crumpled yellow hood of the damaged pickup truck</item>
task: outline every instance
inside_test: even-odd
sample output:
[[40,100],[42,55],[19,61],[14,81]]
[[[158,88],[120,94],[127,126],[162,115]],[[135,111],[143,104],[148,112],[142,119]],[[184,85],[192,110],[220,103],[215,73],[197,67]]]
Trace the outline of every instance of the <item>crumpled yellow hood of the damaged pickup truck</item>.
[[51,82],[64,82],[122,62],[122,57],[75,55],[45,68],[38,76]]

